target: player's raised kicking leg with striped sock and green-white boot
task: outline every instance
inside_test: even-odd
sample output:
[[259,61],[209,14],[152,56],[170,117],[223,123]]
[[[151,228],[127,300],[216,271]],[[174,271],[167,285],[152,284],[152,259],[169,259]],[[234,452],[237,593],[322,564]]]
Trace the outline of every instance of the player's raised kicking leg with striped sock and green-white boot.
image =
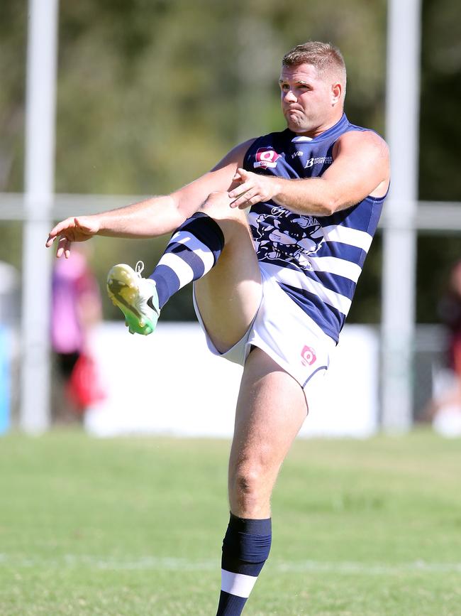
[[131,333],[148,335],[174,293],[196,281],[196,301],[221,352],[238,342],[255,316],[261,276],[245,213],[227,193],[212,193],[172,235],[149,279],[126,264],[109,271],[107,288]]

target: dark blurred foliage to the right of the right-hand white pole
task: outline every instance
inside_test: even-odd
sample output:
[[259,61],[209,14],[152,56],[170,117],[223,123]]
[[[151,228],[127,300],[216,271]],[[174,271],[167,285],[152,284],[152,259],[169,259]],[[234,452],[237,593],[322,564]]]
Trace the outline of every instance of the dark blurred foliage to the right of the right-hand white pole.
[[[423,2],[419,198],[461,201],[461,11],[454,0]],[[437,210],[433,212],[437,217]],[[418,237],[416,316],[438,320],[437,306],[452,264],[461,257],[460,234]]]

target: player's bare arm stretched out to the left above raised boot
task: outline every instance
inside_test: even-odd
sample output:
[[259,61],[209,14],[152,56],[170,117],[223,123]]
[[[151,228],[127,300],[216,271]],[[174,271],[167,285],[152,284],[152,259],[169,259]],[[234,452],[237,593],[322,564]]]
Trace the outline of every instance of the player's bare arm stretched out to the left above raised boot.
[[46,246],[56,239],[56,256],[70,255],[72,242],[84,242],[94,235],[106,237],[157,237],[171,233],[194,214],[210,193],[231,190],[233,177],[243,164],[252,140],[231,150],[216,167],[201,178],[179,188],[171,195],[152,197],[138,203],[91,216],[76,216],[58,222],[48,235]]

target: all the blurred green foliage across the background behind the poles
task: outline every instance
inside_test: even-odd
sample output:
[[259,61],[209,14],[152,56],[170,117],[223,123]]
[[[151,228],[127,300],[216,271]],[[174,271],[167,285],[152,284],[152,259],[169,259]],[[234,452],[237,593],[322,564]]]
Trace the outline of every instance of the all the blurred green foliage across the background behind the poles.
[[[384,132],[386,1],[79,0],[60,3],[56,190],[164,193],[187,183],[238,141],[283,126],[279,59],[309,38],[333,40],[348,65],[346,111]],[[457,200],[461,56],[457,4],[423,1],[422,199]],[[0,191],[23,187],[26,0],[0,5]],[[436,212],[435,214],[436,215]],[[1,226],[0,259],[20,266],[18,233]],[[435,319],[440,272],[459,237],[422,239],[419,320]],[[165,239],[97,240],[101,279],[115,261],[154,264]],[[372,249],[350,320],[379,320],[379,242]],[[172,303],[164,318],[191,315]],[[109,306],[107,307],[109,310]],[[107,314],[115,315],[108,312]]]

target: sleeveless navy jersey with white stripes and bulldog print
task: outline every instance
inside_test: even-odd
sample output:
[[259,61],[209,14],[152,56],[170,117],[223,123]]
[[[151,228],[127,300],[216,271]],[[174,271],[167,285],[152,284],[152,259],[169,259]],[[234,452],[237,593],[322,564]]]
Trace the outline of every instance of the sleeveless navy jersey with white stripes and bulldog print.
[[[280,178],[318,178],[333,163],[333,146],[348,131],[365,131],[343,117],[321,135],[289,129],[259,137],[248,148],[247,171]],[[272,201],[253,205],[249,222],[260,266],[338,342],[357,279],[377,229],[384,197],[368,196],[330,216],[299,215]]]

